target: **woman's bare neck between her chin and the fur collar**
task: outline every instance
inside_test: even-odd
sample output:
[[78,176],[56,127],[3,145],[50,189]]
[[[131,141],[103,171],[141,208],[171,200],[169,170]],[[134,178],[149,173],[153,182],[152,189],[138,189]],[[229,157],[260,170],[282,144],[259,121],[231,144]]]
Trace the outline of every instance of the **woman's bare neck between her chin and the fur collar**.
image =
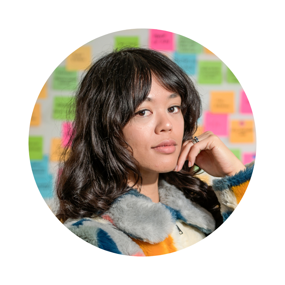
[[[143,184],[141,187],[141,194],[149,197],[152,202],[158,203],[159,196],[158,196],[158,176],[159,173],[149,172],[149,171],[142,171],[143,177]],[[135,183],[134,177],[129,178],[128,184],[131,186]],[[135,185],[133,188],[139,189],[139,186]]]

